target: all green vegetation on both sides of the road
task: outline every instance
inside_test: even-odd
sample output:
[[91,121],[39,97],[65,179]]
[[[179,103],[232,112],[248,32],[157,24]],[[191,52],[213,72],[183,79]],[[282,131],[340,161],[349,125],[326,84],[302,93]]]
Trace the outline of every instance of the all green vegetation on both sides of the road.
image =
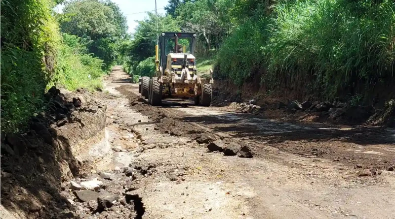
[[1,0],[1,129],[24,127],[49,86],[93,90],[116,63],[134,81],[151,76],[162,31],[195,32],[199,75],[214,65],[216,80],[238,87],[347,93],[357,105],[394,83],[393,0],[169,0],[165,9],[129,36],[110,0]]

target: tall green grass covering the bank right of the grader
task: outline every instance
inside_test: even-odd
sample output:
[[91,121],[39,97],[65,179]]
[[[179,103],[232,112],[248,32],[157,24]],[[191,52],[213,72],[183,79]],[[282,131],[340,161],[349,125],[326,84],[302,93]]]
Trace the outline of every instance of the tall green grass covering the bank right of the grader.
[[245,22],[225,42],[217,60],[222,78],[242,85],[264,67],[269,87],[327,98],[392,80],[394,1],[279,0],[272,9],[271,18]]

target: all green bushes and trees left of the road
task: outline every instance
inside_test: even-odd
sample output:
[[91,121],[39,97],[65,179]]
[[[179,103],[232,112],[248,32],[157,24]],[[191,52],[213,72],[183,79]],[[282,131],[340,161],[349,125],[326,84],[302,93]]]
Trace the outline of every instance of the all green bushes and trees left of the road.
[[43,94],[52,85],[101,87],[101,75],[118,59],[127,26],[116,4],[73,0],[65,14],[56,14],[52,8],[59,3],[63,0],[1,0],[1,131],[26,127],[45,108]]

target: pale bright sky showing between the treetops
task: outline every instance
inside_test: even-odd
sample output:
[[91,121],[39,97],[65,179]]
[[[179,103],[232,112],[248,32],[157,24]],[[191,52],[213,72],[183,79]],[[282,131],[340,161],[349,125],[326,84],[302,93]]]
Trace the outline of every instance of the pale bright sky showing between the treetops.
[[[127,18],[127,26],[129,27],[128,32],[133,33],[138,23],[136,20],[144,20],[147,17],[145,11],[155,12],[155,0],[111,0],[118,4],[123,15]],[[157,0],[158,14],[164,14],[163,9],[166,6],[168,0]],[[58,12],[62,12],[63,5],[58,5]]]

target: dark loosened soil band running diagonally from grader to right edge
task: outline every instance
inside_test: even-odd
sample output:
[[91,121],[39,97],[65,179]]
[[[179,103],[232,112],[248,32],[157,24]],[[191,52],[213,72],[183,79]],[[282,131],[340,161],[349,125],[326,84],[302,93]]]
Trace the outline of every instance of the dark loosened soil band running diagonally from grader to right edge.
[[[162,107],[152,107],[139,102],[133,89],[131,86],[120,86],[118,91],[129,98],[133,109],[155,120],[158,130],[164,133],[193,137],[197,141],[204,138],[204,143],[208,143],[227,138],[215,134],[215,131],[220,131],[231,133],[235,141],[252,147],[257,156],[265,156],[265,150],[262,149],[271,146],[299,156],[322,157],[351,168],[371,169],[373,172],[395,166],[394,132],[382,127],[335,129],[322,125],[306,125],[308,129],[295,128],[292,131],[267,133],[254,127],[255,124],[238,125],[238,121],[257,117],[254,115],[240,113],[237,114],[237,120],[231,118],[231,121],[216,116],[191,117],[177,109],[193,108],[192,104],[164,102]],[[172,108],[177,112],[169,113]],[[210,108],[217,110],[217,107]],[[208,132],[195,124],[209,126],[214,131]],[[274,125],[273,129],[281,127]]]

